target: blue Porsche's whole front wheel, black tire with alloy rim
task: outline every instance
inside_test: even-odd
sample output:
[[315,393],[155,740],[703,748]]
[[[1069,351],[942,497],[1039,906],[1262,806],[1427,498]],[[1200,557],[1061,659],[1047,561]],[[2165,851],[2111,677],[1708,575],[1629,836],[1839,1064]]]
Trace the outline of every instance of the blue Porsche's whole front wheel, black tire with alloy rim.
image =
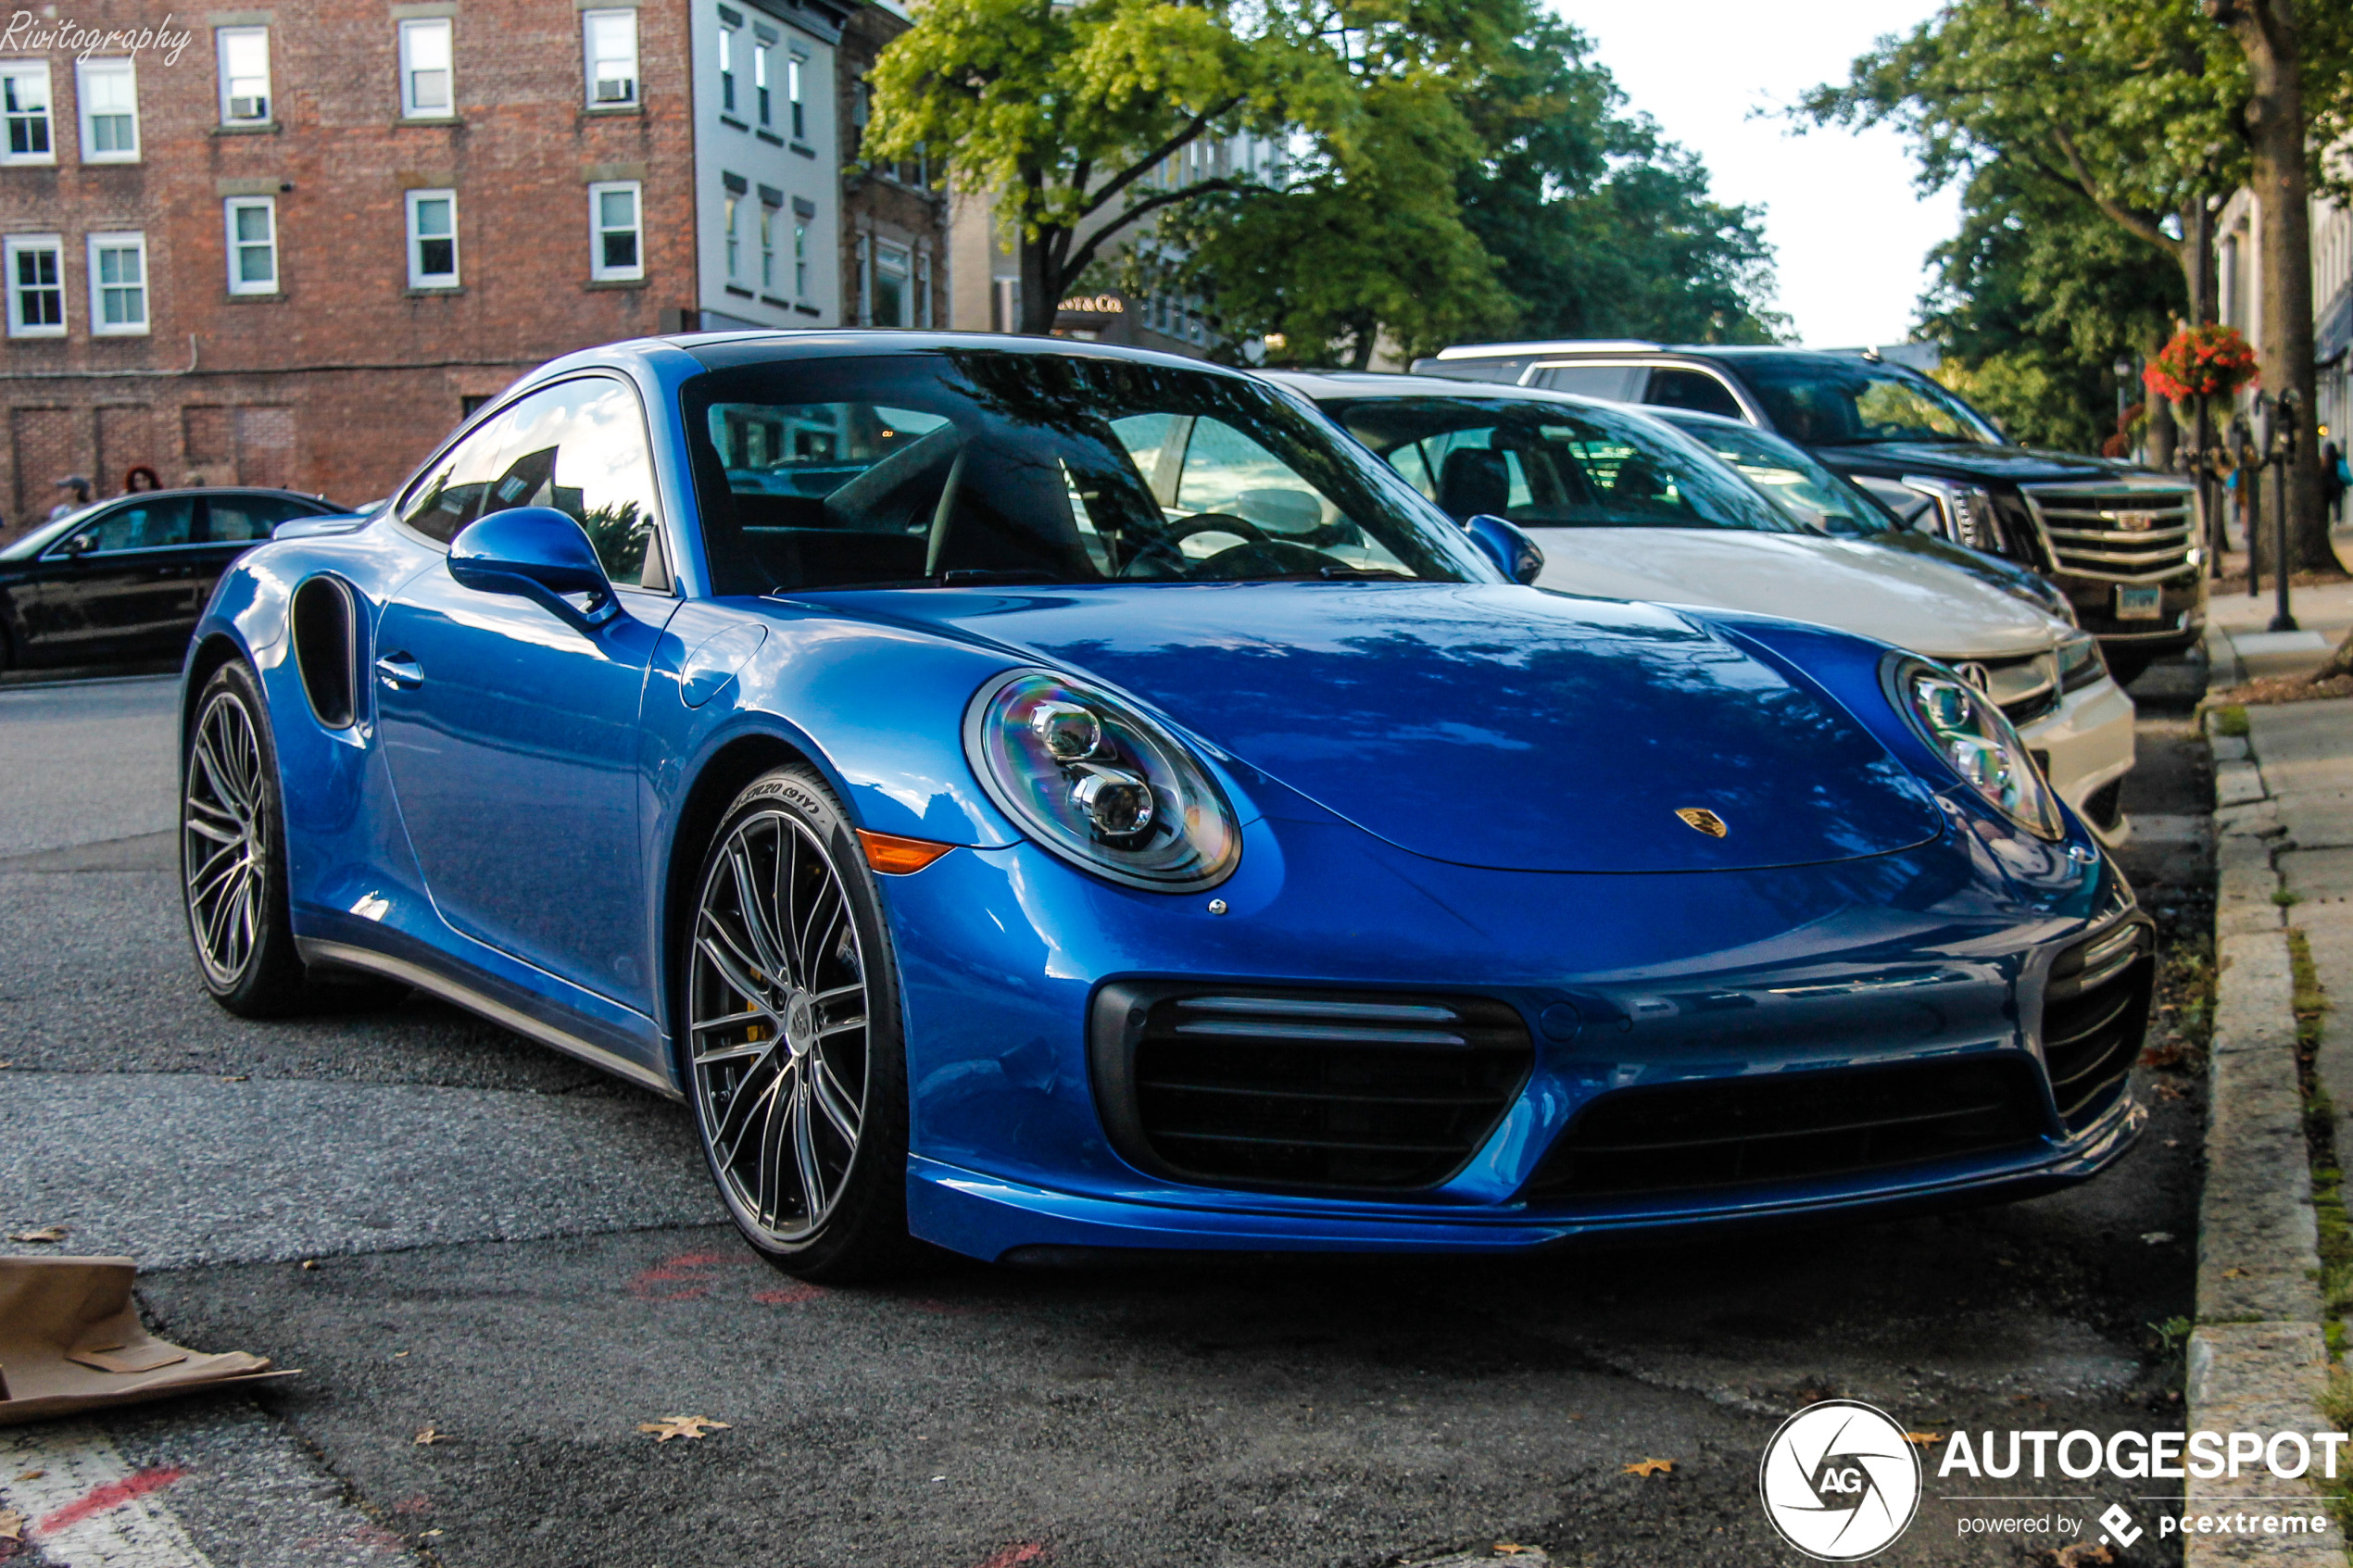
[[899,969],[824,778],[786,766],[736,795],[687,922],[680,1074],[736,1229],[800,1279],[906,1269],[922,1248],[906,1232]]

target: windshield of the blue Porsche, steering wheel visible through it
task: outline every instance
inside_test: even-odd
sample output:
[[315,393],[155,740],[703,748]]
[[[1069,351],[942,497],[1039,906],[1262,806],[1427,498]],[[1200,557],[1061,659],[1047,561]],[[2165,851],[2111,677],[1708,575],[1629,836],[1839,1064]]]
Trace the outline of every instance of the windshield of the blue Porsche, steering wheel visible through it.
[[682,397],[718,592],[1492,576],[1240,376],[960,350],[769,360]]

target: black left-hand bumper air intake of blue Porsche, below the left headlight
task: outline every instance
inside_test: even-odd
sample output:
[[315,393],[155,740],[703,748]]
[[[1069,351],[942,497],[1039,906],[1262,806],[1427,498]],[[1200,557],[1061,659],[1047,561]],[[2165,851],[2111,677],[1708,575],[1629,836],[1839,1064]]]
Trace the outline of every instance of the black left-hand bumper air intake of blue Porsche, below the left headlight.
[[1435,1187],[1534,1060],[1520,1013],[1480,997],[1111,985],[1089,1034],[1132,1164],[1245,1187]]

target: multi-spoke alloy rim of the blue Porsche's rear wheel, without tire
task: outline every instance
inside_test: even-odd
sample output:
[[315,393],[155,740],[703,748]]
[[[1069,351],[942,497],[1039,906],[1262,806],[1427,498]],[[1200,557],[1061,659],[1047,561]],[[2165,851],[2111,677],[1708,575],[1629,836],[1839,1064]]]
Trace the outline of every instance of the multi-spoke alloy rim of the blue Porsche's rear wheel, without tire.
[[233,691],[221,691],[195,724],[179,811],[188,929],[205,973],[219,987],[245,976],[264,917],[261,790],[254,717]]

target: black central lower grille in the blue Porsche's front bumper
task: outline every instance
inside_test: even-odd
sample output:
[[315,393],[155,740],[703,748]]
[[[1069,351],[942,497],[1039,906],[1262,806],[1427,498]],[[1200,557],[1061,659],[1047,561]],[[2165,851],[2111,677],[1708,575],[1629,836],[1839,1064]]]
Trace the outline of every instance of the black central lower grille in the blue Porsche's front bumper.
[[2031,1145],[2033,1067],[1937,1060],[1617,1088],[1577,1114],[1522,1197],[1817,1180]]

